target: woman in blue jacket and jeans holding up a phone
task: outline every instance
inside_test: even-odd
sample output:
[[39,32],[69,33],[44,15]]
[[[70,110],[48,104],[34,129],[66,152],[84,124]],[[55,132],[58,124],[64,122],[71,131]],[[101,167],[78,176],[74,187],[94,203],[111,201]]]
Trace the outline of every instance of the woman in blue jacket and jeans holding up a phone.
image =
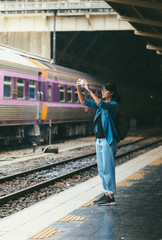
[[[81,85],[85,87],[93,100],[84,98]],[[78,79],[76,87],[81,104],[97,109],[93,130],[96,135],[98,172],[102,179],[104,194],[101,198],[94,201],[94,203],[98,205],[115,205],[115,154],[117,151],[117,142],[119,141],[119,136],[114,125],[119,111],[117,88],[115,84],[106,83],[102,90],[102,100],[90,90],[86,80]]]

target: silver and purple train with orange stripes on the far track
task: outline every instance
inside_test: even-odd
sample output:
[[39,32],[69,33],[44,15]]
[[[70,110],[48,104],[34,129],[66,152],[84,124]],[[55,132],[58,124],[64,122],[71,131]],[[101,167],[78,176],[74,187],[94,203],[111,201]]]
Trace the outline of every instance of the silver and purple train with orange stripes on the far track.
[[[100,79],[53,64],[52,59],[0,45],[0,144],[39,144],[58,136],[92,134],[95,110],[79,103],[78,78],[86,79],[101,97],[104,82]],[[82,93],[90,98],[84,88]],[[152,121],[161,121],[159,105],[152,103],[148,93],[122,86],[119,93],[120,108],[128,121],[145,124],[151,114]]]

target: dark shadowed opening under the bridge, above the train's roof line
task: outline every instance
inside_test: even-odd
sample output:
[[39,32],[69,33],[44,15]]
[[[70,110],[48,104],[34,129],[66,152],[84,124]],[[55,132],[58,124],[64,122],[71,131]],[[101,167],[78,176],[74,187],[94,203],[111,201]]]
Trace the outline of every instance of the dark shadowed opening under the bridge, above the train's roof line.
[[[53,53],[51,34],[51,57]],[[133,31],[57,32],[56,64],[104,82],[161,93],[162,58]]]

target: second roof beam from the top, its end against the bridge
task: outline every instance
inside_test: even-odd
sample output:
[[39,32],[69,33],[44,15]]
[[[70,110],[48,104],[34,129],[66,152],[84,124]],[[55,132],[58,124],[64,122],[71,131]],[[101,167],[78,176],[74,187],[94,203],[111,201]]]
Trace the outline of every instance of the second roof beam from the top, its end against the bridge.
[[126,17],[126,16],[117,16],[118,20],[121,21],[127,21],[127,22],[134,22],[134,23],[141,23],[141,24],[146,24],[146,25],[153,25],[157,27],[162,27],[162,22],[159,21],[152,21],[149,19],[141,19],[141,18],[134,18],[134,17]]

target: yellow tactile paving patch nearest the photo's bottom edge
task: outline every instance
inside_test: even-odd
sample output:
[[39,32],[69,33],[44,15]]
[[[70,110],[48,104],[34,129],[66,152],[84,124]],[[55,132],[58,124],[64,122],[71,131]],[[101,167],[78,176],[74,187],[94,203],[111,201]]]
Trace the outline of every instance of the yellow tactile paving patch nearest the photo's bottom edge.
[[31,239],[43,239],[43,238],[50,238],[52,237],[54,234],[59,233],[62,231],[58,231],[57,228],[53,228],[53,227],[47,227],[44,230],[42,230],[41,232],[37,233],[36,235],[34,235],[33,237],[31,237]]

